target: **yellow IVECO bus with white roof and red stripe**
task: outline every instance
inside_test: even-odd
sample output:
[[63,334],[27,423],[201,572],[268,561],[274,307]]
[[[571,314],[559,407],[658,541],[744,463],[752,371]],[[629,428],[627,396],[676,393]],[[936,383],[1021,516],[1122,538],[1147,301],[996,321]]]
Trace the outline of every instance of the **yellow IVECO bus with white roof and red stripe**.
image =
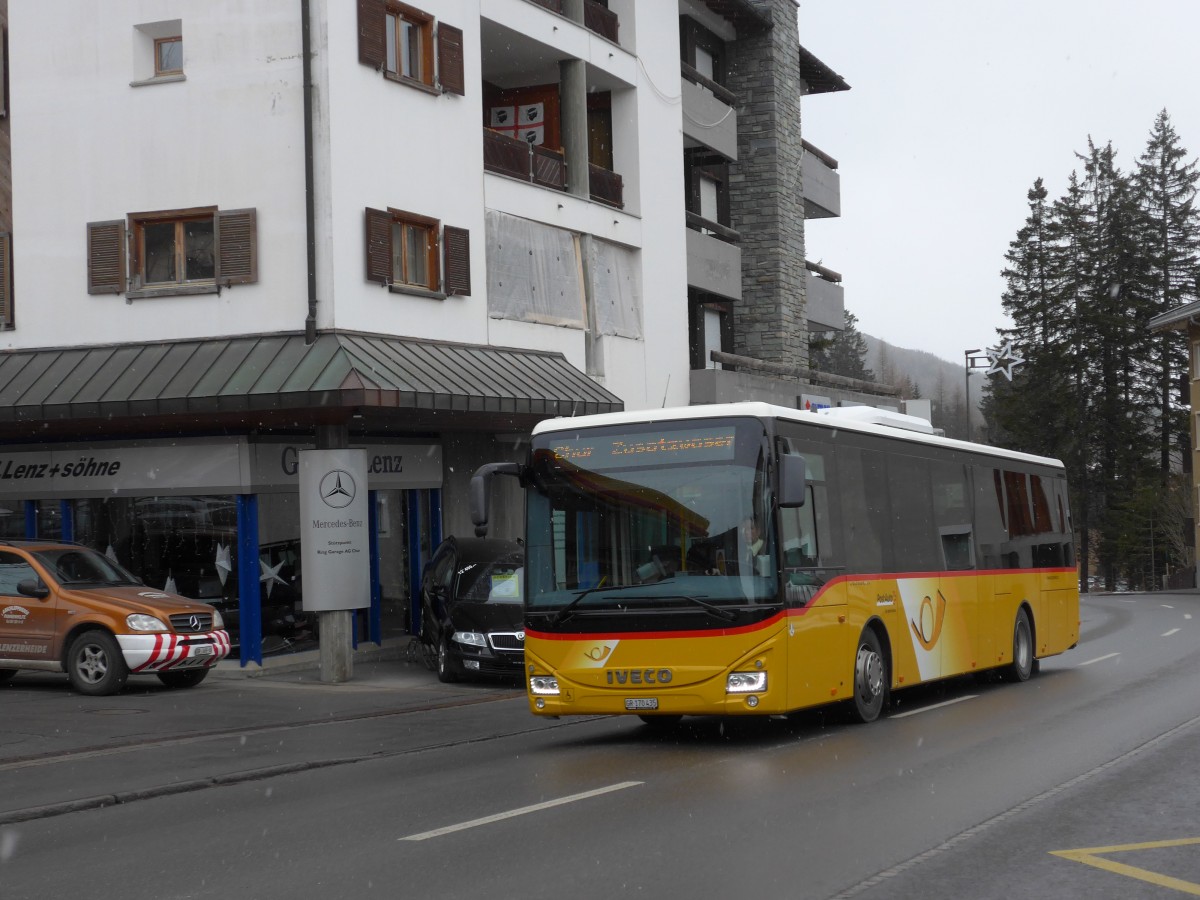
[[773,715],[995,670],[1079,640],[1062,463],[866,407],[731,403],[539,424],[524,463],[538,715]]

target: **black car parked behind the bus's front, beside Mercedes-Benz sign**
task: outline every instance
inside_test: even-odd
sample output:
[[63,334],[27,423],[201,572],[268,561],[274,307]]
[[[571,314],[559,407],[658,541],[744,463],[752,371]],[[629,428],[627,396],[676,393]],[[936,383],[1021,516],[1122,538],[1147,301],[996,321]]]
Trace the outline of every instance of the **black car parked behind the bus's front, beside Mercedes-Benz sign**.
[[438,678],[521,674],[524,548],[516,541],[446,538],[421,576],[421,640]]

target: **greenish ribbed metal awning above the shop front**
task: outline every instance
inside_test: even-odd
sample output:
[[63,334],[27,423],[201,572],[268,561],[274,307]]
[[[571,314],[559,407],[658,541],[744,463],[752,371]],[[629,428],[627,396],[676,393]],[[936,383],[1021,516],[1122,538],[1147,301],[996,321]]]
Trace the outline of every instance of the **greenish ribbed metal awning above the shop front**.
[[0,352],[7,433],[17,424],[338,408],[542,419],[624,404],[560,353],[346,331],[312,344],[295,334]]

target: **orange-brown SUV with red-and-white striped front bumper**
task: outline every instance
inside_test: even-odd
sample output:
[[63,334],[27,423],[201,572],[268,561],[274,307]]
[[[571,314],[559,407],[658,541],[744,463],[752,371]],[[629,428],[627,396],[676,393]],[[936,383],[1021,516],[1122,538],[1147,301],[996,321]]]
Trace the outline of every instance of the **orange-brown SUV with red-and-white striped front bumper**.
[[55,541],[0,541],[0,683],[18,670],[66,672],[80,694],[130,674],[170,688],[204,680],[229,653],[221,613],[148,588],[102,553]]

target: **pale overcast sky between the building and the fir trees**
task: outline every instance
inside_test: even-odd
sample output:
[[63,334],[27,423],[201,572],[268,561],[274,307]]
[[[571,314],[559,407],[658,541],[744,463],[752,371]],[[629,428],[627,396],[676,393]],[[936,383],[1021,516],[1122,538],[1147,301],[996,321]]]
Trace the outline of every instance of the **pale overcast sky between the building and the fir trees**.
[[1165,108],[1200,152],[1194,0],[800,0],[799,17],[800,43],[851,85],[804,101],[842,204],[809,222],[808,258],[893,346],[958,362],[996,346],[1026,194],[1040,176],[1061,197],[1088,136],[1129,170]]

